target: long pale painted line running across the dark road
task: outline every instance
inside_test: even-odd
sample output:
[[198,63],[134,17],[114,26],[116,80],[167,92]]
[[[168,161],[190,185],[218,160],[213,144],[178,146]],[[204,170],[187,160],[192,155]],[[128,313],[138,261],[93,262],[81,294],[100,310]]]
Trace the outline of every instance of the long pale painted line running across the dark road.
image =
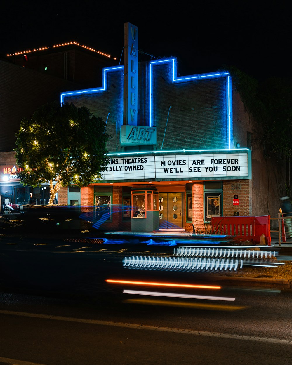
[[[277,344],[292,345],[292,340],[281,340],[278,338],[269,338],[269,337],[234,335],[234,334],[225,334],[225,333],[220,333],[220,332],[209,332],[209,331],[194,331],[194,330],[187,330],[187,329],[183,329],[183,328],[155,327],[155,326],[146,326],[143,324],[108,322],[108,321],[97,320],[97,319],[82,319],[82,318],[72,318],[72,317],[63,317],[63,316],[53,316],[53,315],[47,315],[47,314],[14,312],[14,311],[6,311],[6,310],[0,310],[0,314],[41,318],[41,319],[53,319],[53,320],[61,320],[61,321],[66,321],[66,322],[97,324],[97,325],[101,325],[101,326],[134,328],[134,329],[148,330],[148,331],[173,332],[173,333],[189,334],[189,335],[196,335],[196,336],[229,338],[229,339],[236,339],[236,340],[270,342],[270,343],[277,343]],[[30,364],[32,364],[32,363],[27,363],[27,364],[25,362],[19,363],[19,365],[30,365]],[[40,365],[40,364],[34,364],[34,365]]]

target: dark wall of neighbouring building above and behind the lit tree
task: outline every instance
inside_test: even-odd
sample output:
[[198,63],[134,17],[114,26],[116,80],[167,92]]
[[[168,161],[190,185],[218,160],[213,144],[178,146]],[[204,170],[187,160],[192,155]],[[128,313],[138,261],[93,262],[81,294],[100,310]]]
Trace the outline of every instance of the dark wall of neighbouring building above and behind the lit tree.
[[15,148],[15,134],[24,117],[31,118],[40,105],[59,100],[61,91],[78,88],[78,84],[62,78],[3,61],[0,79],[0,151]]

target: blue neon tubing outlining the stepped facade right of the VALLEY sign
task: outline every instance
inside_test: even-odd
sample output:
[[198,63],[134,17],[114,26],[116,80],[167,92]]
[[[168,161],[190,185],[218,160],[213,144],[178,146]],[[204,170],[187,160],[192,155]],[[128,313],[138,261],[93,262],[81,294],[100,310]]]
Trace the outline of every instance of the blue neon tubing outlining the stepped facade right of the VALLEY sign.
[[[231,101],[231,92],[232,92],[232,85],[231,85],[231,77],[229,72],[211,72],[211,73],[204,73],[204,74],[195,74],[191,76],[176,76],[177,75],[177,68],[176,68],[176,59],[175,58],[167,58],[167,59],[160,59],[157,61],[149,62],[149,126],[152,127],[153,120],[152,120],[152,72],[151,66],[154,64],[161,64],[163,62],[170,62],[172,63],[172,82],[182,82],[182,81],[193,81],[196,79],[208,79],[208,78],[215,78],[215,77],[227,77],[227,115],[226,118],[228,120],[227,126],[227,137],[228,137],[228,150],[230,150],[230,120],[231,120],[231,112],[232,112],[232,101]],[[226,149],[224,149],[226,150]]]

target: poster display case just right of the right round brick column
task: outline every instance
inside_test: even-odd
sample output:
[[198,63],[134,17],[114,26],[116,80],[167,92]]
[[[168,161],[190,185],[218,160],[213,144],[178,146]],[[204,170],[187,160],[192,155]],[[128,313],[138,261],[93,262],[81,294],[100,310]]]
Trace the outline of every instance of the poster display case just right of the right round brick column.
[[204,183],[204,218],[210,222],[212,217],[222,216],[222,182]]

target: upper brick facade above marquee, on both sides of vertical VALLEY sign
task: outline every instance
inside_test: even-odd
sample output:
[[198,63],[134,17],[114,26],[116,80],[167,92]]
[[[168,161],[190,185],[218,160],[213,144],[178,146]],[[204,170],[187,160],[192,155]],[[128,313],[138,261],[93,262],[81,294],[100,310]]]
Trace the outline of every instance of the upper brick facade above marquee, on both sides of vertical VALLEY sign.
[[[142,93],[139,98],[139,120],[143,125],[149,117],[149,80],[145,68],[141,67],[140,70],[144,79],[141,79],[139,88]],[[157,127],[156,149],[162,145],[170,105],[172,108],[163,149],[173,149],[174,146],[180,149],[228,147],[226,79],[173,83],[170,72],[170,63],[153,68],[152,122]],[[123,124],[123,71],[108,72],[106,75],[105,91],[66,96],[64,101],[72,102],[77,107],[84,105],[104,120],[110,112],[107,130],[112,138],[107,146],[110,152],[119,152],[119,130]]]

